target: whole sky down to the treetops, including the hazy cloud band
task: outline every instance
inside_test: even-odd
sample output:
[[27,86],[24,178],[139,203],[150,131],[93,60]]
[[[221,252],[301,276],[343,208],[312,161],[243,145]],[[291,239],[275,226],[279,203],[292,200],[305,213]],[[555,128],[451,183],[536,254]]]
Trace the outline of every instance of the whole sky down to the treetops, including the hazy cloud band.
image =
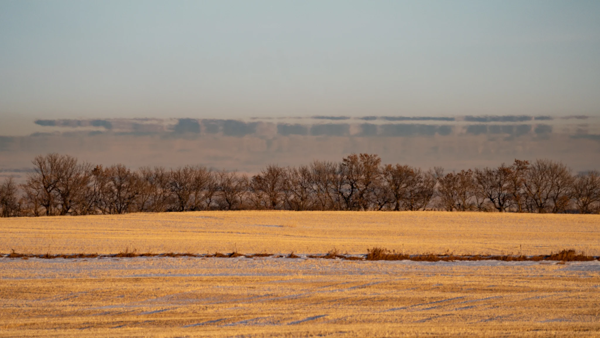
[[0,1],[0,179],[93,164],[600,168],[600,1]]

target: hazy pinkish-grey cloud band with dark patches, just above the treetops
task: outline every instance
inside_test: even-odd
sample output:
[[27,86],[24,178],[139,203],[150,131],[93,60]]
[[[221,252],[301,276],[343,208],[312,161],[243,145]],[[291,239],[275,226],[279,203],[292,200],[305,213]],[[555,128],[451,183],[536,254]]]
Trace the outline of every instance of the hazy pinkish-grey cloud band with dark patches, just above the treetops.
[[386,163],[442,165],[448,170],[499,165],[515,158],[550,158],[574,171],[600,169],[600,125],[592,119],[584,124],[581,118],[527,120],[518,116],[486,117],[485,122],[476,123],[462,117],[296,121],[37,120],[35,125],[47,132],[0,136],[0,172],[24,176],[34,156],[49,152],[104,165],[202,164],[247,173],[269,163],[337,161],[352,152],[377,153]]

